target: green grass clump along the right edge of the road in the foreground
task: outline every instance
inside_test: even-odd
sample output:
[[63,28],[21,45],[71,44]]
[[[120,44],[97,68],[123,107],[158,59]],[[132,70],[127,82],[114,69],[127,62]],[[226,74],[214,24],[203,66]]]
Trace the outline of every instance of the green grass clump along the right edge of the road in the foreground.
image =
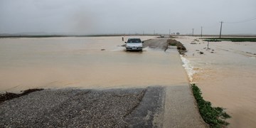
[[229,123],[225,122],[225,119],[230,118],[230,115],[224,112],[222,107],[212,107],[210,102],[203,100],[203,97],[201,96],[202,92],[196,84],[192,84],[191,87],[203,120],[209,124],[210,127],[227,126]]

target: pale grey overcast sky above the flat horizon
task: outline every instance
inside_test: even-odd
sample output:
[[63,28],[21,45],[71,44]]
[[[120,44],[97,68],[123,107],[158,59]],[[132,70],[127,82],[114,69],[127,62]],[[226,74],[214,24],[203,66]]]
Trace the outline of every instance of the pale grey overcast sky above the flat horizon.
[[0,0],[0,33],[256,34],[255,18],[256,0]]

